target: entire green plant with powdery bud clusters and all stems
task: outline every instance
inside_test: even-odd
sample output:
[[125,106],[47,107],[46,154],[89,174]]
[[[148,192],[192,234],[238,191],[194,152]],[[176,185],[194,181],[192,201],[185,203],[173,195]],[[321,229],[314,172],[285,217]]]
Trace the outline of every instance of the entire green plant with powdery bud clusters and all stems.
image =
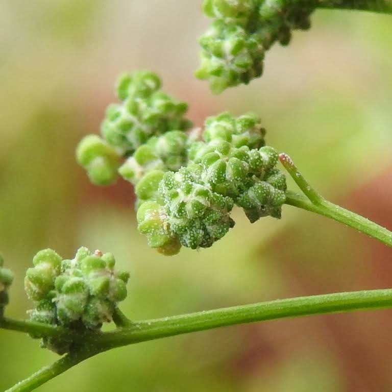
[[[309,27],[316,7],[354,8],[392,13],[390,0],[205,0],[214,19],[200,38],[202,66],[197,76],[214,92],[249,83],[262,72],[264,52],[276,41],[288,43],[291,31]],[[254,113],[228,112],[208,117],[193,128],[187,105],[161,90],[159,77],[135,71],[119,77],[118,104],[102,122],[101,136],[88,135],[77,147],[77,160],[96,185],[118,175],[135,189],[139,232],[165,255],[182,246],[208,248],[225,236],[237,206],[251,223],[263,216],[280,218],[283,204],[330,217],[392,247],[392,232],[325,200],[307,182],[291,158],[265,144],[265,129]],[[303,194],[287,189],[281,162]],[[101,352],[182,333],[282,317],[390,308],[392,289],[342,292],[253,305],[131,321],[118,308],[127,296],[127,272],[116,272],[111,253],[80,248],[73,259],[46,249],[33,259],[24,280],[34,302],[29,320],[4,315],[12,272],[0,257],[0,328],[41,338],[41,346],[61,359],[45,366],[7,392],[31,391],[77,363]],[[116,329],[102,332],[105,322]]]

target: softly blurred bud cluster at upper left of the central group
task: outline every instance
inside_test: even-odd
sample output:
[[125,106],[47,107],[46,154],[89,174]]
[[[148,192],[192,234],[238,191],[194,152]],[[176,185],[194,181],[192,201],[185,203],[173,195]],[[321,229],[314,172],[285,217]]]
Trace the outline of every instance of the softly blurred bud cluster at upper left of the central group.
[[[77,161],[87,170],[92,183],[115,182],[123,158],[130,160],[121,166],[119,173],[134,184],[143,166],[172,170],[183,163],[185,150],[181,146],[186,139],[183,133],[192,126],[184,117],[187,104],[177,102],[160,86],[159,77],[150,71],[120,75],[116,92],[122,102],[109,105],[101,126],[102,137],[84,137],[76,151]],[[166,133],[169,135],[165,136]],[[148,162],[140,162],[142,155],[149,155]]]

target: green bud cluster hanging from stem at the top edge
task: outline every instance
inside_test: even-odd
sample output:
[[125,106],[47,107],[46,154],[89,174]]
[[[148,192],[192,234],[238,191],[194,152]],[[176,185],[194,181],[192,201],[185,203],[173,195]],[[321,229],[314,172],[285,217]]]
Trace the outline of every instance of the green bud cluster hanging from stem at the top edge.
[[308,29],[313,8],[283,0],[204,0],[203,11],[214,21],[199,39],[195,75],[220,93],[261,76],[265,51],[276,41],[288,44],[292,30]]

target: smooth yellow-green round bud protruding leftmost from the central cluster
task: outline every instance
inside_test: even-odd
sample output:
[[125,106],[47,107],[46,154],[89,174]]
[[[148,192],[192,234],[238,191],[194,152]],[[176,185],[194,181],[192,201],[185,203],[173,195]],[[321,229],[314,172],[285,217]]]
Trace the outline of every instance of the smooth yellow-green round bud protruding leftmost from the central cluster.
[[96,185],[109,185],[117,178],[119,156],[97,135],[84,137],[76,150],[78,163],[87,170],[90,181]]

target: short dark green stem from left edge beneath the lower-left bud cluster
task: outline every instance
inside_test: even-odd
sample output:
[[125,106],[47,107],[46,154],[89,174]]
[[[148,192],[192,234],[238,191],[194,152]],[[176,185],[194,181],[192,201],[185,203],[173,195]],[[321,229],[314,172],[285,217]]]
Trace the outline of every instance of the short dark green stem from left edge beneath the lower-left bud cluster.
[[62,334],[69,334],[67,329],[55,325],[36,323],[29,320],[15,320],[14,318],[8,317],[0,317],[0,328],[31,333],[35,336],[60,336]]

